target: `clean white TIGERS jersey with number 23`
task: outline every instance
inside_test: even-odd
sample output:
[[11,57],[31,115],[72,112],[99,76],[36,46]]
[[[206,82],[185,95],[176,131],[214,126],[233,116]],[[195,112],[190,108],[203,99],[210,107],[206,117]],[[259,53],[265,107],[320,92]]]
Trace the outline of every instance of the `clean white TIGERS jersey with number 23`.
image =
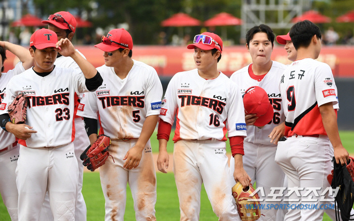
[[19,143],[32,148],[69,144],[75,138],[74,96],[84,92],[88,90],[81,71],[55,67],[41,77],[30,68],[9,81],[0,114],[7,113],[15,97],[23,93],[29,99],[26,124],[37,133]]

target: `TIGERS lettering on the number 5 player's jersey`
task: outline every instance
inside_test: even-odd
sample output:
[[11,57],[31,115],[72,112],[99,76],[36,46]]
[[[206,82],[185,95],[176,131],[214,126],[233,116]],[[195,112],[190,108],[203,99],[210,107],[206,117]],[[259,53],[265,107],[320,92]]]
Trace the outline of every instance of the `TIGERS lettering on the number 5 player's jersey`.
[[103,109],[110,106],[132,106],[144,108],[145,96],[114,96],[114,97],[98,97],[102,103]]

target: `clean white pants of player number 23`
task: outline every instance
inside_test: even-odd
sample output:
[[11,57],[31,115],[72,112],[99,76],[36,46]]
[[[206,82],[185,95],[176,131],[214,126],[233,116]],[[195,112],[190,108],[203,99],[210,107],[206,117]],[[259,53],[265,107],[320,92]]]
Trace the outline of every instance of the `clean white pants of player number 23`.
[[19,221],[39,220],[48,191],[54,220],[75,220],[78,167],[73,143],[50,148],[20,145],[16,168]]

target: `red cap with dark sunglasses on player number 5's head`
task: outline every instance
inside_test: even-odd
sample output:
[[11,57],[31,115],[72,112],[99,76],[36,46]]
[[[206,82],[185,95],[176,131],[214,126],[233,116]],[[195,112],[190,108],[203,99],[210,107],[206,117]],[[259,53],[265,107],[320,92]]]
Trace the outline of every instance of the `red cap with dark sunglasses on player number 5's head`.
[[119,48],[132,50],[132,38],[124,28],[116,28],[102,36],[102,42],[95,47],[104,52],[113,52]]

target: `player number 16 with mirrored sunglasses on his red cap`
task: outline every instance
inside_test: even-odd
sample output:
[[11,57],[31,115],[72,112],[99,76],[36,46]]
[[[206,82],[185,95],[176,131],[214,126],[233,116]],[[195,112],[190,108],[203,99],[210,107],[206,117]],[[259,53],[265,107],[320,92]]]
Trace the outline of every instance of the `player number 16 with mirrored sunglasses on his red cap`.
[[[251,181],[242,165],[246,123],[240,89],[217,71],[223,52],[218,35],[198,34],[187,48],[194,50],[197,68],[176,73],[168,83],[158,126],[157,167],[162,172],[168,167],[166,145],[176,115],[173,172],[181,220],[199,220],[202,183],[219,220],[240,220],[230,190],[234,179],[243,186]],[[226,156],[227,132],[235,158],[234,179]]]

